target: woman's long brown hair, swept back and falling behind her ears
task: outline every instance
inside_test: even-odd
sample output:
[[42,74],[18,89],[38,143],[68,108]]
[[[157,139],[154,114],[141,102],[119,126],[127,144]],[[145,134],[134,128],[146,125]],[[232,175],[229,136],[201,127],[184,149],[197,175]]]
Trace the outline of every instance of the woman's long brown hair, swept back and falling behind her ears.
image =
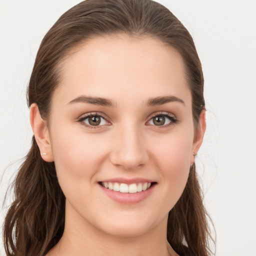
[[[202,68],[193,39],[166,7],[152,0],[85,0],[61,15],[38,49],[27,90],[28,105],[36,103],[47,120],[51,96],[61,77],[61,61],[88,38],[116,33],[157,38],[179,52],[196,128],[204,98]],[[65,197],[54,162],[42,160],[34,136],[13,184],[15,200],[3,226],[6,254],[45,255],[63,233]],[[185,189],[169,212],[167,240],[172,248],[180,255],[211,255],[208,219],[193,164]]]

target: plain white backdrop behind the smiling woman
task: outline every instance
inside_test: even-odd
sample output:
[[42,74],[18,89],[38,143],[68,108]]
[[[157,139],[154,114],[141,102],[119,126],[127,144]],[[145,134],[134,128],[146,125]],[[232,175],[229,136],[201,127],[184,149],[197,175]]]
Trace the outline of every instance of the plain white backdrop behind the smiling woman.
[[[255,256],[256,0],[158,1],[189,30],[202,62],[207,130],[196,164],[216,229],[216,255]],[[30,147],[25,91],[39,43],[78,2],[0,0],[1,204]],[[10,200],[11,195],[0,223]]]

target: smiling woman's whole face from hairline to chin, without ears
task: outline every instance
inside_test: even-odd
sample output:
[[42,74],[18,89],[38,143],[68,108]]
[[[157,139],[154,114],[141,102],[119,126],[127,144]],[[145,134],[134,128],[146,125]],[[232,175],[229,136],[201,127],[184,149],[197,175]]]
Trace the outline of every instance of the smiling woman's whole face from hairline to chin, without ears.
[[61,68],[49,137],[66,221],[119,236],[166,227],[196,147],[181,57],[150,37],[105,36]]

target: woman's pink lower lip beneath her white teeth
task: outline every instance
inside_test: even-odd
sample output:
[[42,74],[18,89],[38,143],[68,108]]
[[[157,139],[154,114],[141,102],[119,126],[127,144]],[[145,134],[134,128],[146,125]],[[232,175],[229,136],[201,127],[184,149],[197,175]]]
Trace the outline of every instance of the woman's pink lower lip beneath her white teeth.
[[148,189],[141,191],[141,192],[136,192],[136,193],[121,193],[120,191],[114,191],[108,188],[105,188],[104,186],[98,184],[101,189],[104,191],[104,193],[113,199],[116,202],[119,203],[137,203],[145,198],[147,198],[153,191],[155,184],[151,185]]

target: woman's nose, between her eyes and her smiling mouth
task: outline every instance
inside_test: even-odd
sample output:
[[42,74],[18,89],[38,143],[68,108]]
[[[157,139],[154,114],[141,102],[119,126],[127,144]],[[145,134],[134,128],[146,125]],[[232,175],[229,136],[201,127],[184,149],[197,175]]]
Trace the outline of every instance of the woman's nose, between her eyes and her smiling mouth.
[[110,161],[116,166],[131,170],[145,165],[149,160],[146,141],[142,131],[135,125],[119,127],[114,133],[112,143]]

